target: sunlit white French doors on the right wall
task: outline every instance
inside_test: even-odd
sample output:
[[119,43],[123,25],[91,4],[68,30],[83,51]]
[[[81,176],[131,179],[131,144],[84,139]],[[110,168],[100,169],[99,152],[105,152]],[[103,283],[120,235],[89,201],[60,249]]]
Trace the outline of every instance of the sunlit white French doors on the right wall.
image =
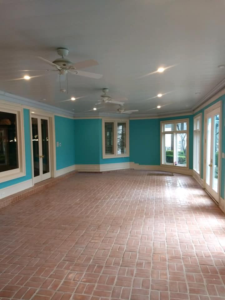
[[218,202],[219,200],[219,158],[220,158],[220,108],[206,115],[206,159],[205,188]]

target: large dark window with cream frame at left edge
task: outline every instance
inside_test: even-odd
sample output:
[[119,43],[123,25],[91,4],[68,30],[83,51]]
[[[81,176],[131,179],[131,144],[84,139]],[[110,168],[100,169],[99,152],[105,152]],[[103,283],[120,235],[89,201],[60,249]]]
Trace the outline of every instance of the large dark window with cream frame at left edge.
[[1,103],[0,182],[25,176],[22,109]]

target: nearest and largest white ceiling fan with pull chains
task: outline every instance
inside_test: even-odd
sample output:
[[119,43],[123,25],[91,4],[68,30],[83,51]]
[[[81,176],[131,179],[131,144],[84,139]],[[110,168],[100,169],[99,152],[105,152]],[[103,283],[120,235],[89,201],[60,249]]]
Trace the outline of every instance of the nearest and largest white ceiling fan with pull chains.
[[[58,48],[57,53],[58,53],[58,55],[60,55],[62,57],[55,59],[53,62],[50,62],[49,60],[42,58],[41,56],[37,56],[37,58],[41,59],[48,65],[54,67],[54,69],[49,69],[47,71],[58,71],[59,75],[65,75],[69,72],[74,75],[85,76],[85,77],[95,78],[95,79],[100,79],[103,77],[103,75],[101,75],[101,74],[85,72],[85,71],[79,70],[79,69],[98,65],[98,62],[96,60],[89,59],[89,60],[84,60],[79,63],[73,63],[69,59],[65,58],[65,56],[67,56],[69,54],[68,49]],[[29,71],[44,71],[44,70],[20,70],[20,71],[29,72]]]

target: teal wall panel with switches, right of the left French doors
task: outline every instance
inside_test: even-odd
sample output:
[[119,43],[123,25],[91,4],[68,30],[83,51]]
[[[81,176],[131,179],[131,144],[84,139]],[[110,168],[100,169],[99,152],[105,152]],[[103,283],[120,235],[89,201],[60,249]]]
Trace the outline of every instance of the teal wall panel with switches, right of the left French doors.
[[56,147],[56,170],[75,164],[74,129],[73,119],[55,116],[55,139],[62,145]]

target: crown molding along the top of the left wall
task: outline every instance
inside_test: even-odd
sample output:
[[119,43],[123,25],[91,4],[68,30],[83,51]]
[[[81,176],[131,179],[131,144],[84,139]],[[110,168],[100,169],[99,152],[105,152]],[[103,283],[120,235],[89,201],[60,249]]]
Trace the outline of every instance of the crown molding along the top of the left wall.
[[38,108],[38,109],[45,110],[45,111],[55,113],[55,114],[59,114],[59,115],[65,116],[65,117],[73,118],[73,116],[74,116],[74,113],[70,112],[68,110],[64,110],[64,109],[57,108],[57,107],[49,105],[49,104],[45,104],[42,102],[38,102],[35,100],[17,96],[17,95],[14,95],[14,94],[11,94],[11,93],[8,93],[5,91],[0,91],[0,97],[2,100],[20,104],[24,108],[29,108],[29,109]]

